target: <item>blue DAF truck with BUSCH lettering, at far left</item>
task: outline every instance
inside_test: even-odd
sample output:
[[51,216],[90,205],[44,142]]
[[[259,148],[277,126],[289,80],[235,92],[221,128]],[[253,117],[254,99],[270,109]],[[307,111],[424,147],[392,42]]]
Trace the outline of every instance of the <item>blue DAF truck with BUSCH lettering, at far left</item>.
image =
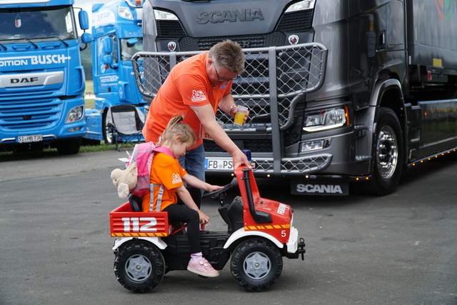
[[[86,134],[74,0],[0,2],[0,150],[76,154]],[[81,29],[89,29],[79,11]],[[85,33],[81,41],[91,41]]]

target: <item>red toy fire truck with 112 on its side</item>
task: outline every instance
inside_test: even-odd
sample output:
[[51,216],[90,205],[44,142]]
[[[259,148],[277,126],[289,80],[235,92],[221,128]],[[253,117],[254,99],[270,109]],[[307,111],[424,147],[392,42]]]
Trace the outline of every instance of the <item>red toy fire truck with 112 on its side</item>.
[[[261,198],[251,169],[235,170],[241,196],[224,204],[223,189],[207,193],[221,203],[219,214],[227,231],[201,230],[203,255],[216,270],[231,258],[231,274],[248,291],[262,291],[281,275],[283,256],[304,259],[305,244],[292,225],[291,206]],[[114,242],[114,274],[126,289],[145,292],[154,289],[164,274],[186,270],[190,259],[185,230],[176,230],[166,212],[141,212],[141,204],[129,197],[110,213]]]

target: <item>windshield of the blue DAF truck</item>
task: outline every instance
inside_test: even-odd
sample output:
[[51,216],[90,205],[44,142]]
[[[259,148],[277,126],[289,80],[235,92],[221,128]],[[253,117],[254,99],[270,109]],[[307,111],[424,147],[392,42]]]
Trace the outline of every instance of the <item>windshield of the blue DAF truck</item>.
[[[19,39],[76,39],[71,6],[0,9],[0,41]],[[36,40],[34,40],[36,42]]]

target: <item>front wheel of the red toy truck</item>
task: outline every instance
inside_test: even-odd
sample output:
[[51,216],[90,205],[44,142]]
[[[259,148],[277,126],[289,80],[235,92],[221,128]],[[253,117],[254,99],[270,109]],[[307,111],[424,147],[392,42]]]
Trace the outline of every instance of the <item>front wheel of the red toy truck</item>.
[[283,258],[271,242],[248,239],[233,251],[230,269],[240,286],[248,291],[262,291],[276,283],[283,271]]

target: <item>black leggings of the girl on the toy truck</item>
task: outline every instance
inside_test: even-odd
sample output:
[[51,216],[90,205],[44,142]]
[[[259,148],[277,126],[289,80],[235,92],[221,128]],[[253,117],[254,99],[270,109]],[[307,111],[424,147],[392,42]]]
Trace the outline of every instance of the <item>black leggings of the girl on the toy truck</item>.
[[201,252],[199,212],[179,204],[171,204],[162,211],[169,213],[169,221],[181,221],[187,223],[187,236],[189,237],[191,254]]

